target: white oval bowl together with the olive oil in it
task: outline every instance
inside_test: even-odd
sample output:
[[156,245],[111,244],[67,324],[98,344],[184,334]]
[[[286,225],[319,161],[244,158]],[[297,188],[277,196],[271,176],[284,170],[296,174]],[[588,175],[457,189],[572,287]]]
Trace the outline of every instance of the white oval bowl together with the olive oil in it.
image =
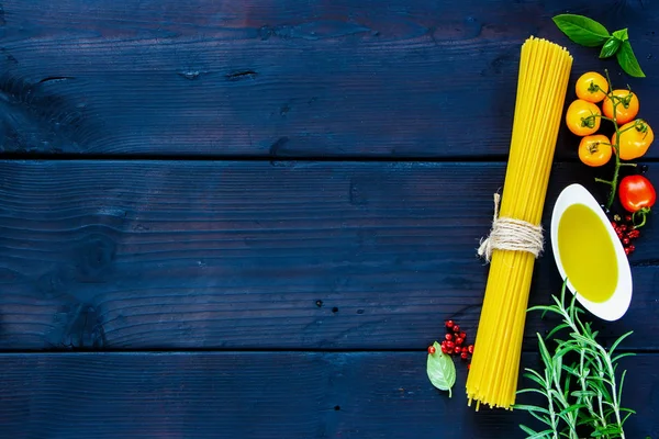
[[632,270],[597,201],[580,184],[554,206],[551,247],[558,271],[577,300],[605,320],[621,318],[632,301]]

